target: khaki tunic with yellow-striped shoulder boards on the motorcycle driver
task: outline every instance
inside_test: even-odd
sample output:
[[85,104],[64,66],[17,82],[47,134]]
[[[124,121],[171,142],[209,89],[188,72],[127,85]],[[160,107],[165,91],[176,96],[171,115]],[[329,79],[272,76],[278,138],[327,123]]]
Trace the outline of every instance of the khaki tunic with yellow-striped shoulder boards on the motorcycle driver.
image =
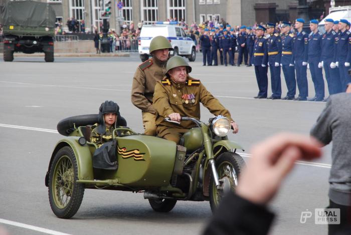
[[[188,104],[182,102],[182,96],[185,94],[194,94],[195,103]],[[183,99],[184,100],[184,99]],[[177,84],[171,79],[164,78],[162,81],[156,83],[155,92],[153,96],[152,106],[157,111],[156,126],[157,135],[163,137],[167,134],[174,133],[173,128],[179,129],[179,132],[184,133],[185,129],[195,127],[192,121],[182,121],[180,125],[164,121],[171,113],[179,113],[181,117],[192,117],[200,120],[200,103],[202,103],[208,110],[218,116],[223,115],[230,121],[230,112],[224,108],[218,99],[201,84],[200,80],[195,80],[188,75],[185,84]]]

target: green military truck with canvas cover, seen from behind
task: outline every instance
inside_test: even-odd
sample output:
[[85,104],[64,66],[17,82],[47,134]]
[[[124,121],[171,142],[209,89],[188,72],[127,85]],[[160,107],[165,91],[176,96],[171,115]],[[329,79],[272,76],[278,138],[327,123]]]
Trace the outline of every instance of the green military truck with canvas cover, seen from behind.
[[4,31],[4,61],[13,61],[14,52],[45,53],[45,61],[54,61],[56,15],[48,3],[9,2],[1,12]]

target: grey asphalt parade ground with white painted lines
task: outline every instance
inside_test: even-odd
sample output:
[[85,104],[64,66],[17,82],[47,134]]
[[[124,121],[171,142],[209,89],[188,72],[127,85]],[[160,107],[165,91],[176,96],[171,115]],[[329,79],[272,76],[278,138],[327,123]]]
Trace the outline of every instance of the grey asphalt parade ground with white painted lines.
[[[141,113],[130,102],[132,77],[139,64],[135,54],[60,57],[54,63],[38,57],[0,59],[0,227],[10,234],[42,234],[40,228],[53,230],[44,231],[51,234],[201,233],[211,217],[207,201],[180,201],[163,214],[154,212],[142,193],[87,189],[73,218],[59,219],[50,208],[44,178],[53,148],[62,137],[54,131],[57,123],[69,116],[97,113],[103,101],[114,100],[128,126],[142,132]],[[253,143],[274,133],[308,135],[325,106],[323,102],[253,99],[258,92],[253,67],[203,67],[200,54],[190,65],[191,75],[201,79],[239,124],[239,133],[229,138],[244,146],[246,161]],[[283,73],[282,90],[285,96]],[[203,108],[202,120],[209,117]],[[269,205],[277,213],[271,234],[327,233],[327,226],[315,224],[314,216],[306,223],[300,222],[300,216],[302,211],[314,214],[315,208],[328,204],[330,151],[331,146],[326,146],[322,158],[296,164]]]

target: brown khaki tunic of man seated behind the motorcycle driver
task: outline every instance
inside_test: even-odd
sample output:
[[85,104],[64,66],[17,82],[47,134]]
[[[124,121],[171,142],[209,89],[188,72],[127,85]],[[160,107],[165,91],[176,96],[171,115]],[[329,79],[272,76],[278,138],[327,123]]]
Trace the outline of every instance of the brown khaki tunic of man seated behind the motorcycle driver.
[[156,114],[152,107],[152,97],[156,82],[165,74],[165,64],[160,65],[153,58],[138,66],[133,77],[131,102],[143,112]]

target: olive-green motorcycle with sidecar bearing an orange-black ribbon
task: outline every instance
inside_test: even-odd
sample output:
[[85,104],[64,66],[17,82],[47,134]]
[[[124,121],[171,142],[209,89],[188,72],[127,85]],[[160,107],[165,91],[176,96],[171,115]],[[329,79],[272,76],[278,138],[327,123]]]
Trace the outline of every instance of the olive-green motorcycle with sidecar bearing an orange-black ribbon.
[[143,192],[152,209],[159,212],[170,211],[178,200],[208,200],[214,211],[227,191],[235,191],[245,166],[236,151],[244,149],[228,140],[231,125],[226,117],[210,118],[208,124],[183,117],[197,127],[183,135],[180,145],[136,133],[121,117],[113,132],[116,170],[93,167],[97,145],[89,140],[97,118],[95,114],[80,115],[58,124],[65,137],[56,144],[45,177],[57,217],[72,217],[87,188]]

